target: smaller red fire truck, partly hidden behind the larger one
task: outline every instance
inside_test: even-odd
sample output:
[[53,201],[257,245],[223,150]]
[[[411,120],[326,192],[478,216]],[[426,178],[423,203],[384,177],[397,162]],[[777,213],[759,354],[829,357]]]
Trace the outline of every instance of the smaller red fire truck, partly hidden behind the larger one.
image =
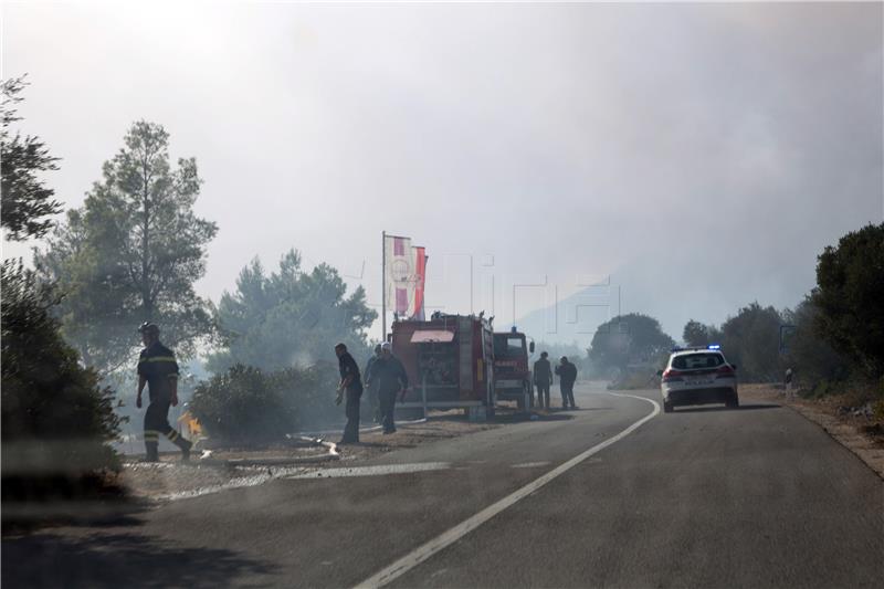
[[522,410],[534,406],[529,354],[534,354],[534,341],[527,341],[515,326],[509,332],[494,334],[495,399],[516,401]]

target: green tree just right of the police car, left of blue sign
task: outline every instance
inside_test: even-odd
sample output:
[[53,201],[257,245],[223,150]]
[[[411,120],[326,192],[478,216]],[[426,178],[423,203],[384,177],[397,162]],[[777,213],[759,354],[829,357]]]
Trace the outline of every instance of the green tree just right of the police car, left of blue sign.
[[779,333],[783,319],[772,306],[758,302],[739,309],[722,325],[722,350],[749,380],[777,380],[782,370]]

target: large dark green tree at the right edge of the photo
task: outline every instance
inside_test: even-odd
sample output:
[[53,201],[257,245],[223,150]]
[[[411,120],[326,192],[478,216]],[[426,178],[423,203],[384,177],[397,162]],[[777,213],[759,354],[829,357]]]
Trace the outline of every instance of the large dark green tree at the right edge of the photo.
[[817,264],[815,326],[869,376],[884,376],[884,223],[848,233]]

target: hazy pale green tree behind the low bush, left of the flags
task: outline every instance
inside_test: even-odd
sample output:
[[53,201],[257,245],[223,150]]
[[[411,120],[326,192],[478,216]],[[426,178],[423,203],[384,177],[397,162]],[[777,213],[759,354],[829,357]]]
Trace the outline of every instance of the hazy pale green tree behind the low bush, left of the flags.
[[349,297],[346,292],[338,272],[327,264],[302,271],[294,250],[270,275],[253,260],[240,272],[236,291],[221,296],[217,322],[227,345],[210,356],[209,369],[218,374],[235,364],[264,370],[308,366],[334,359],[338,341],[357,357],[365,354],[364,330],[378,314],[366,306],[361,286]]

